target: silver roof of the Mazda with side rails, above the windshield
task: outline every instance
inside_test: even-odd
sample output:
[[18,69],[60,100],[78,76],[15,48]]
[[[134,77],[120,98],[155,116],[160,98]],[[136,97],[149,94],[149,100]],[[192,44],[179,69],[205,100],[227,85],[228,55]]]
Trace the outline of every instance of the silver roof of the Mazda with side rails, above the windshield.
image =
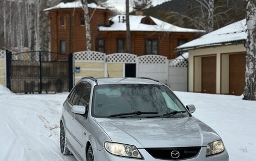
[[133,78],[133,77],[102,77],[102,78],[94,78],[94,77],[84,77],[83,80],[93,80],[97,81],[98,85],[106,85],[106,84],[154,84],[154,85],[162,85],[161,82],[149,78]]

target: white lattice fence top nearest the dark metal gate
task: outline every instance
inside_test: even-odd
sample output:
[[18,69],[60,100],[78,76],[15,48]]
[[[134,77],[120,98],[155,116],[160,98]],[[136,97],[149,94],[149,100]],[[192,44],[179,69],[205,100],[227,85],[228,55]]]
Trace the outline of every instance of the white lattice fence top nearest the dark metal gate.
[[75,53],[75,61],[83,61],[83,62],[104,62],[105,61],[105,53],[100,52],[76,52]]

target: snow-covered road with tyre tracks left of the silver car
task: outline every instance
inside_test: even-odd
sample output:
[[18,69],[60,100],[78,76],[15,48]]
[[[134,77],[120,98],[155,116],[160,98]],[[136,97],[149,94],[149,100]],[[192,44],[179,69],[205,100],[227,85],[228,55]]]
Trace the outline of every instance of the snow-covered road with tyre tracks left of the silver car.
[[0,160],[76,160],[59,146],[67,94],[18,95],[0,86]]

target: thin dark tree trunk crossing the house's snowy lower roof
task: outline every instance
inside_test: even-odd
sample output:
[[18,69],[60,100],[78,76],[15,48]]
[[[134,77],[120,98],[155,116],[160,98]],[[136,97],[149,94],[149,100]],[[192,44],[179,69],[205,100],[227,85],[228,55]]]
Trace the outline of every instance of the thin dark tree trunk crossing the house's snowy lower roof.
[[130,31],[130,5],[129,0],[125,1],[125,16],[126,16],[126,43],[127,43],[127,53],[131,53],[131,31]]

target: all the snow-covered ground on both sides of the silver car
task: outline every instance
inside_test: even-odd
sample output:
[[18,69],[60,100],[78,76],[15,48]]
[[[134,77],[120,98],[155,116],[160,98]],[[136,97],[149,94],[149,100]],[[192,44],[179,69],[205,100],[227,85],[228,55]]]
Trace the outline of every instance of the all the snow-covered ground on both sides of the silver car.
[[[241,96],[175,92],[193,114],[221,135],[231,161],[256,158],[256,102]],[[67,94],[12,94],[0,85],[0,160],[75,160],[59,148]]]

